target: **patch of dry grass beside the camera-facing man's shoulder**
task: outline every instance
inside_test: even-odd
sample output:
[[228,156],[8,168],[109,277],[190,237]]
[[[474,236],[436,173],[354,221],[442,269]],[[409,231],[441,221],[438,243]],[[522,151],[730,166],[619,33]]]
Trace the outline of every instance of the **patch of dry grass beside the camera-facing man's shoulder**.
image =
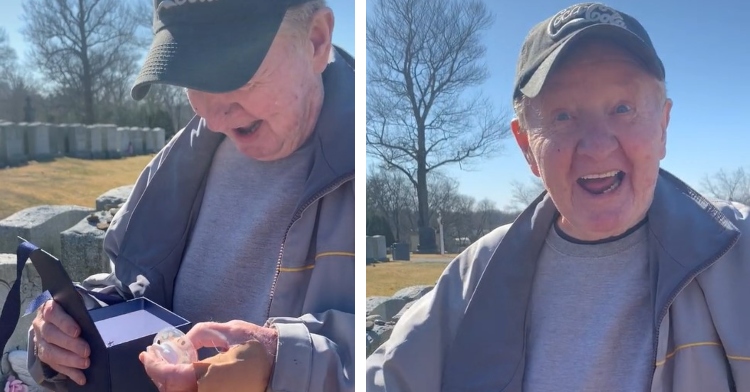
[[412,261],[369,265],[367,266],[367,296],[391,296],[404,287],[435,284],[452,259],[453,257],[448,255],[412,255]]

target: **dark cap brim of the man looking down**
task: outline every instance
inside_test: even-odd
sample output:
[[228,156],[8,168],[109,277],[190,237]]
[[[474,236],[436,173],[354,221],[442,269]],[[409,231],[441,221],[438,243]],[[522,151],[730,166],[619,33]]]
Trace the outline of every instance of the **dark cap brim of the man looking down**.
[[262,23],[175,25],[154,35],[130,95],[143,99],[153,83],[223,93],[245,85],[271,47],[284,9],[269,11]]

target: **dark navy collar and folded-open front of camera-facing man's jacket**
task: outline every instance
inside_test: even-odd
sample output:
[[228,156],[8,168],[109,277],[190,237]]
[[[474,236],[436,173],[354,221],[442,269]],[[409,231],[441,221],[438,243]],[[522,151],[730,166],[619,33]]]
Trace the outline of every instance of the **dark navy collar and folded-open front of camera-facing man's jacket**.
[[[520,391],[536,262],[557,209],[545,193],[509,227],[477,283],[443,370],[444,391]],[[739,230],[660,170],[648,211],[654,328],[679,291],[736,242]]]

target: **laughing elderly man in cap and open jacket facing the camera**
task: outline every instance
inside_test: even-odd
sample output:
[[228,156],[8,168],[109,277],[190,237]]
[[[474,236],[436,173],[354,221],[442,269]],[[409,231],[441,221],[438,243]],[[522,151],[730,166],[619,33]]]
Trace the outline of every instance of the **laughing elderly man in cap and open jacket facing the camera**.
[[409,309],[368,391],[750,390],[750,209],[660,169],[664,81],[624,12],[531,30],[511,126],[546,192]]

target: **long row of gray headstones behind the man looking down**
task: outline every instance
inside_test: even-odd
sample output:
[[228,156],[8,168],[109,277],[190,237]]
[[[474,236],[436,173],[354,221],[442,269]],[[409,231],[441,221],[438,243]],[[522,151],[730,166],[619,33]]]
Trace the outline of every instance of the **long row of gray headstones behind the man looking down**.
[[117,159],[157,152],[164,143],[162,128],[0,121],[0,167],[61,156]]

